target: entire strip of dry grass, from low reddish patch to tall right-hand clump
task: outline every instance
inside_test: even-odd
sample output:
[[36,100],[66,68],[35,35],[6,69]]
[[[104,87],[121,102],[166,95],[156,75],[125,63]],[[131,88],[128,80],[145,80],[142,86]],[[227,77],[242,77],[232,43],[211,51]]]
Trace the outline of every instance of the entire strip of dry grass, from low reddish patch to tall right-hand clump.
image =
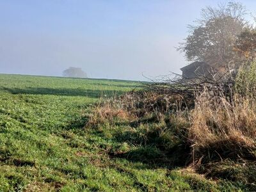
[[[205,159],[209,161],[216,156],[218,159],[255,159],[255,85],[256,63],[253,62],[239,72],[228,94],[227,90],[207,90],[207,86],[190,100],[147,90],[131,92],[99,104],[88,124],[115,123],[116,120],[140,124],[141,120],[154,116],[166,124],[164,132],[182,140],[186,143],[184,146],[191,146],[193,158],[207,156]],[[186,102],[189,108],[184,107]]]

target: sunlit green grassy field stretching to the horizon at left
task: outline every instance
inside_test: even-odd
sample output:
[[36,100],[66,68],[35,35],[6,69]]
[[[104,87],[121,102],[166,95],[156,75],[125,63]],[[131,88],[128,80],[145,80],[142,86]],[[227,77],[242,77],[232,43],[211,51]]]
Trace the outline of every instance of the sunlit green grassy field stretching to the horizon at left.
[[[149,163],[147,158],[157,159],[158,149],[129,143],[127,131],[134,132],[134,140],[140,138],[130,125],[86,127],[100,97],[115,97],[136,85],[0,75],[0,191],[239,190],[189,168]],[[126,156],[113,156],[118,152]]]

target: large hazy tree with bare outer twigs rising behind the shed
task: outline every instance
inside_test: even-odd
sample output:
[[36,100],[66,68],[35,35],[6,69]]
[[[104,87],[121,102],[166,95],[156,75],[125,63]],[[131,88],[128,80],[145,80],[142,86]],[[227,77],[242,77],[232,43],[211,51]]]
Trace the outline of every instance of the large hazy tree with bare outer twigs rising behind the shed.
[[207,7],[196,26],[189,26],[189,35],[178,50],[185,52],[188,61],[205,61],[212,67],[226,67],[239,60],[233,47],[236,37],[247,25],[246,9],[240,3]]

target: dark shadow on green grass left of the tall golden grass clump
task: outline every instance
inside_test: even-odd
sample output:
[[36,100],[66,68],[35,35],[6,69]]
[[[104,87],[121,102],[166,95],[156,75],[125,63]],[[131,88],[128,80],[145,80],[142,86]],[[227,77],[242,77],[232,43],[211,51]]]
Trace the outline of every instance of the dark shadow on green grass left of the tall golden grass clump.
[[[143,123],[145,123],[144,125],[152,124],[152,119]],[[173,127],[170,127],[171,125],[167,126],[169,126],[167,131],[158,129],[159,127],[148,129],[147,126],[145,128],[131,126],[136,128],[114,132],[113,140],[115,142],[120,145],[130,143],[133,147],[128,151],[111,150],[109,157],[144,163],[152,169],[168,168],[172,170],[188,166],[191,163],[191,147],[182,136],[175,132]]]

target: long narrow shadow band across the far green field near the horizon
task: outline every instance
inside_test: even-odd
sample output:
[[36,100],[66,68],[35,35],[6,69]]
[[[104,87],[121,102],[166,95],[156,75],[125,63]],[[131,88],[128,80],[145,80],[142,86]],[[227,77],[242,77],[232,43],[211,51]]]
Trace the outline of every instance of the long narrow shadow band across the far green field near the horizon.
[[116,90],[82,90],[75,88],[6,88],[3,90],[12,94],[31,94],[31,95],[63,95],[63,96],[84,96],[91,98],[113,97],[125,93]]

